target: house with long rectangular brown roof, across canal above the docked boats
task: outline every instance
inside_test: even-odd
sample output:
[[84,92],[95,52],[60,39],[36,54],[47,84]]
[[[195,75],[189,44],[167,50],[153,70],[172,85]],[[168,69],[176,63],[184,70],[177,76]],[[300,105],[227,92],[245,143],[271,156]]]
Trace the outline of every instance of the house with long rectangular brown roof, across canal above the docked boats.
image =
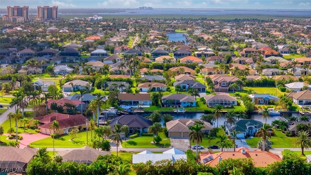
[[152,105],[150,94],[141,93],[141,94],[132,94],[132,93],[120,93],[118,95],[121,105],[128,105],[134,107],[149,107]]

